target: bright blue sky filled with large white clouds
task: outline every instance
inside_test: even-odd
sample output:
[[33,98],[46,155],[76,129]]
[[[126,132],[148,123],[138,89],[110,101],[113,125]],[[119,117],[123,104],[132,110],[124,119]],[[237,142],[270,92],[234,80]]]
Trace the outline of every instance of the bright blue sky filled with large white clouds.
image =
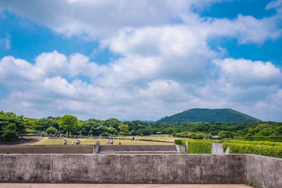
[[282,121],[282,0],[1,0],[0,110]]

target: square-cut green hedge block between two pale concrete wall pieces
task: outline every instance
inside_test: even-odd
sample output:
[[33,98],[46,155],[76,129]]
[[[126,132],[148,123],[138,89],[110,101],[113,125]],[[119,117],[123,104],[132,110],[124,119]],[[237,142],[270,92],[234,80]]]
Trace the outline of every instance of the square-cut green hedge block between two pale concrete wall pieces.
[[188,147],[187,152],[192,154],[211,154],[211,145],[210,142],[206,141],[196,141],[196,140],[187,140]]

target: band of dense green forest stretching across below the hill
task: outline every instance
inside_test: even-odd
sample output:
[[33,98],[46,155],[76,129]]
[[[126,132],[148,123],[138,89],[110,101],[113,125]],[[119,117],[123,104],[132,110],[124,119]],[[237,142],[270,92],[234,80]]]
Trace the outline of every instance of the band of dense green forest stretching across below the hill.
[[[18,116],[13,112],[0,112],[0,131],[2,139],[13,142],[19,132],[33,133],[63,133],[67,131],[60,126],[62,117],[47,117],[41,119]],[[282,122],[177,122],[177,123],[146,123],[142,121],[124,121],[110,118],[107,120],[88,119],[79,121],[78,126],[70,133],[72,135],[150,135],[156,132],[171,134],[175,137],[191,137],[196,139],[233,136],[282,136]]]

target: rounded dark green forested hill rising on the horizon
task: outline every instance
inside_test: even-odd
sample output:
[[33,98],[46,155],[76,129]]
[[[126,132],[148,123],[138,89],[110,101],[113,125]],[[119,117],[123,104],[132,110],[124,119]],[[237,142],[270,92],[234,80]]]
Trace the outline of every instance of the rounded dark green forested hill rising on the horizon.
[[184,112],[174,114],[155,123],[168,122],[261,122],[247,114],[243,114],[232,109],[206,109],[194,108]]

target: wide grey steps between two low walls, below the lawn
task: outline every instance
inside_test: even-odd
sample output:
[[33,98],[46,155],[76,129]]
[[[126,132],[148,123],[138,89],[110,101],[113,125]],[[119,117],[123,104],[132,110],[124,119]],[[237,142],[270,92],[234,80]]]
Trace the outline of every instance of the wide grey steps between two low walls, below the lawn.
[[104,145],[97,154],[177,154],[175,145]]

